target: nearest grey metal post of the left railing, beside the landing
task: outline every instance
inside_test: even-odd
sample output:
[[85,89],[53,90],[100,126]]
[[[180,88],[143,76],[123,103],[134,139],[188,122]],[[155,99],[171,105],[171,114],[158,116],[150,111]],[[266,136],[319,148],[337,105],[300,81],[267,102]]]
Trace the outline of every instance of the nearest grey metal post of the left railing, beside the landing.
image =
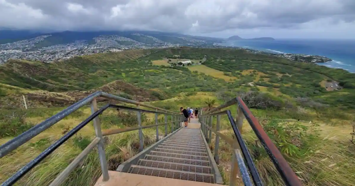
[[[91,114],[95,113],[97,110],[98,109],[97,109],[96,97],[94,97],[94,99],[91,101]],[[101,139],[100,142],[97,144],[97,148],[99,151],[99,158],[100,158],[103,181],[108,181],[110,179],[110,177],[109,177],[109,171],[107,168],[106,153],[105,153],[105,149],[104,149],[104,142],[103,142],[102,131],[101,131],[101,126],[100,126],[100,119],[98,116],[93,119],[93,123],[94,123],[96,137],[99,137]]]

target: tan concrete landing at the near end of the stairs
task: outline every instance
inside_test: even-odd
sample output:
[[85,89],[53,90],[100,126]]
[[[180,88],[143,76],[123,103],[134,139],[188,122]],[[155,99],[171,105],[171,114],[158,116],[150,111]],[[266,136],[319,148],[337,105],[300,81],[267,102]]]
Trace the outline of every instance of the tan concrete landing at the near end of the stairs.
[[179,180],[158,176],[146,176],[118,171],[109,171],[109,175],[110,180],[107,182],[102,181],[101,175],[95,186],[220,186],[219,184]]

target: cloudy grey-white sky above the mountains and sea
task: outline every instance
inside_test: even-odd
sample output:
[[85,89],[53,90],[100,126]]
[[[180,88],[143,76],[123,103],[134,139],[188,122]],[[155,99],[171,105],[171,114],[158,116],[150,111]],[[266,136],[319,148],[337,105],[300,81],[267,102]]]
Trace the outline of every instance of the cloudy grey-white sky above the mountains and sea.
[[0,0],[0,27],[355,39],[355,0]]

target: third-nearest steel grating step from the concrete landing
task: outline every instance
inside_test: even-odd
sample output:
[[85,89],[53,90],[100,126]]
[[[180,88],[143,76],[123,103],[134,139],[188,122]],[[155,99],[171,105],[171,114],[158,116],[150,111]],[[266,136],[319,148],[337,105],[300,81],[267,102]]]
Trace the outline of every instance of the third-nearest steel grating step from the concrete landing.
[[191,164],[191,165],[201,165],[201,166],[210,166],[209,161],[206,160],[191,160],[185,158],[171,158],[164,156],[155,156],[151,154],[147,154],[144,159],[154,160],[160,162],[172,162],[172,163],[183,163],[183,164]]

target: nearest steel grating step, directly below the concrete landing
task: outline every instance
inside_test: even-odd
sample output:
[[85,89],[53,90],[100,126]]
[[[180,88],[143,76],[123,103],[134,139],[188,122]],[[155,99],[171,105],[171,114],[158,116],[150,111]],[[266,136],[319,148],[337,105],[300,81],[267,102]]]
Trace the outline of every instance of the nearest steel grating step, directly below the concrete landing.
[[212,174],[202,174],[202,173],[191,174],[190,172],[185,172],[185,171],[150,168],[150,167],[143,167],[139,165],[132,165],[128,173],[214,183],[214,177]]

